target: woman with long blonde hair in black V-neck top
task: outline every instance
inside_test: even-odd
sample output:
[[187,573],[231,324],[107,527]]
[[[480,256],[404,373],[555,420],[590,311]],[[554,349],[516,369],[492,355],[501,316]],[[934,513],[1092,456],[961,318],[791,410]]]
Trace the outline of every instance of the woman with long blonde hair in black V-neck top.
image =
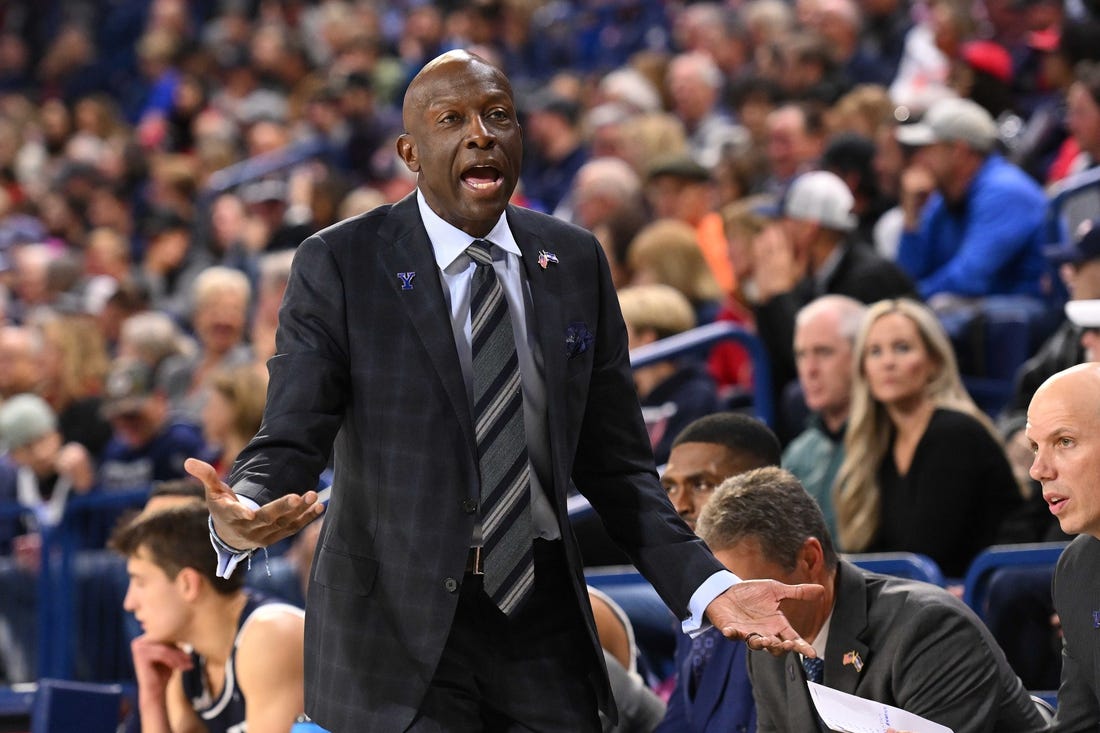
[[840,547],[922,553],[948,578],[961,578],[1022,502],[1000,440],[924,305],[872,305],[856,354],[834,486]]

